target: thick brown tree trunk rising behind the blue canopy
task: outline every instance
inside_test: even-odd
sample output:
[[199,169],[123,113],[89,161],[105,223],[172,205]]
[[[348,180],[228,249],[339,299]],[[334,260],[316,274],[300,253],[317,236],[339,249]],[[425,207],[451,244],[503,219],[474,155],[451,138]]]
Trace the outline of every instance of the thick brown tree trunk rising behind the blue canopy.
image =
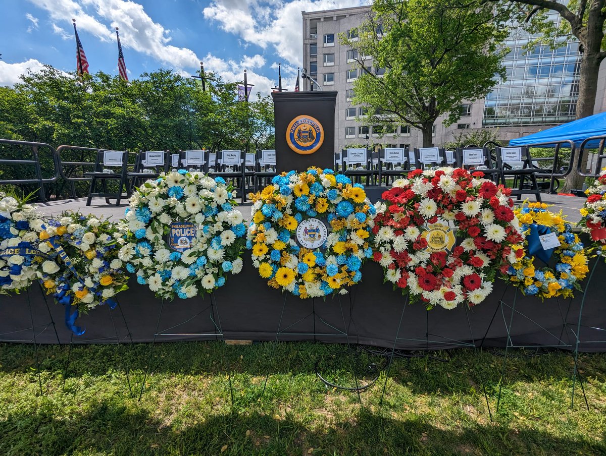
[[[596,40],[597,41],[597,40]],[[596,104],[596,93],[598,91],[598,72],[600,69],[601,60],[599,59],[599,51],[601,38],[595,44],[588,45],[585,48],[581,57],[581,71],[579,75],[579,101],[576,105],[576,118],[593,116],[593,108]],[[597,48],[597,49],[593,49]],[[566,177],[564,188],[562,191],[568,192],[571,190],[583,188],[585,177],[580,176],[577,172],[580,150],[576,150],[574,162],[571,165],[572,171]],[[585,151],[581,169],[584,170],[587,166],[588,151]]]

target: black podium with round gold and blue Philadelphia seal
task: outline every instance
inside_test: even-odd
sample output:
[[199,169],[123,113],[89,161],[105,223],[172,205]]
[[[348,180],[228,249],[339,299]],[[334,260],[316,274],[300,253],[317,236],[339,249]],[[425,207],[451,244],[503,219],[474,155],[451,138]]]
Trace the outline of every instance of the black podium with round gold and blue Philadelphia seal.
[[276,169],[335,167],[336,91],[274,92]]

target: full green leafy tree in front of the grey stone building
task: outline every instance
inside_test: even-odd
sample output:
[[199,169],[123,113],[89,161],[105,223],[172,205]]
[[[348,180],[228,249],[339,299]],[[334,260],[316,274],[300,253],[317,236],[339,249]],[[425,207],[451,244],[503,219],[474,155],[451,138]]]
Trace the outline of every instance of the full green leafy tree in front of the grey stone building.
[[444,124],[453,124],[462,101],[484,97],[504,78],[498,45],[507,18],[479,0],[376,0],[359,38],[339,37],[362,73],[353,101],[368,106],[366,122],[411,125],[430,146],[439,116],[449,113]]

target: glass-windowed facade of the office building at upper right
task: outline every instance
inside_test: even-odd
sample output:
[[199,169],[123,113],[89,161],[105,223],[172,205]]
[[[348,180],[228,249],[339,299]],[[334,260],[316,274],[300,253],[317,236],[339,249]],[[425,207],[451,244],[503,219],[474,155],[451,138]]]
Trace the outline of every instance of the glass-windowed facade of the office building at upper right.
[[[559,20],[557,15],[554,20]],[[482,125],[551,125],[574,120],[579,97],[579,45],[569,40],[551,49],[524,46],[536,36],[512,27],[505,46],[507,79],[488,94]]]

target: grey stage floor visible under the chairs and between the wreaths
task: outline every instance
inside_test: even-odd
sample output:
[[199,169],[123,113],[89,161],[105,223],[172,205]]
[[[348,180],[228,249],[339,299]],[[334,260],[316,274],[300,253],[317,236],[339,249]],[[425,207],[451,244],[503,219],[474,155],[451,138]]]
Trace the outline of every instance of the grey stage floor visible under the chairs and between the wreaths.
[[[549,195],[541,194],[543,202],[553,204],[554,207],[551,211],[559,211],[568,216],[568,221],[576,223],[581,219],[579,214],[579,208],[582,207],[585,202],[584,198],[576,196],[561,196],[561,195]],[[531,198],[530,201],[534,201]],[[523,200],[519,201],[514,199],[516,205],[521,204]],[[93,202],[90,206],[86,206],[86,198],[79,199],[64,199],[59,201],[51,201],[48,203],[40,203],[39,210],[49,216],[57,216],[63,211],[80,211],[84,214],[93,214],[95,216],[112,217],[112,219],[121,219],[124,216],[124,210],[128,207],[128,204],[121,204],[118,207],[115,205],[107,205],[104,198],[93,198]],[[250,202],[245,205],[238,206],[238,210],[242,213],[245,220],[250,220]]]

